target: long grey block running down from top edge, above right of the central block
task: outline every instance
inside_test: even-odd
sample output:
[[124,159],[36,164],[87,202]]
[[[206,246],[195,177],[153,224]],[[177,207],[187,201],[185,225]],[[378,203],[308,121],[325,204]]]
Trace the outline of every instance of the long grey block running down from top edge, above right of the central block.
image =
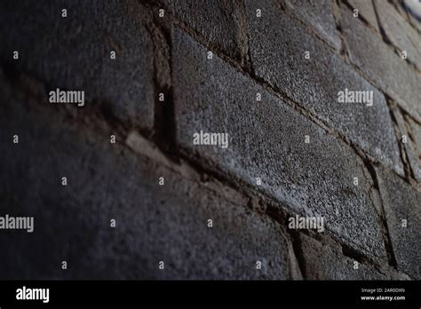
[[[250,55],[257,75],[402,174],[383,94],[297,21],[276,10],[271,1],[248,0],[246,5]],[[262,18],[251,14],[257,7],[262,10]],[[310,59],[305,59],[306,51]],[[373,106],[339,103],[338,91],[346,89],[373,91]]]

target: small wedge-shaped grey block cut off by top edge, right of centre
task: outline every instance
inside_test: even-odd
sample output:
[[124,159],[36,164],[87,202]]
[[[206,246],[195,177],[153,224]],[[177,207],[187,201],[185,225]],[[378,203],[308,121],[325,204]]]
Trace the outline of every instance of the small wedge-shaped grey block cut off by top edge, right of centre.
[[304,20],[315,32],[322,36],[331,46],[340,49],[340,38],[333,16],[333,7],[330,0],[286,0],[288,12]]

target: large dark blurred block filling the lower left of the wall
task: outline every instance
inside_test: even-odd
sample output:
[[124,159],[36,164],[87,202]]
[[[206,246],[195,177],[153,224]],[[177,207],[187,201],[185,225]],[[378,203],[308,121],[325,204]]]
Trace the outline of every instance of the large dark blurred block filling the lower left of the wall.
[[289,241],[271,219],[2,90],[1,213],[35,217],[32,234],[0,232],[2,279],[290,278]]

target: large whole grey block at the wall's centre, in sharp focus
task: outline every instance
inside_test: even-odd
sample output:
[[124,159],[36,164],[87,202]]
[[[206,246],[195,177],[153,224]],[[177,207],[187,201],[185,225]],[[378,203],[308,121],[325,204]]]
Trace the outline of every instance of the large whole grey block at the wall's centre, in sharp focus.
[[[174,32],[172,47],[177,143],[185,155],[199,155],[208,167],[251,186],[262,178],[257,188],[290,210],[324,216],[338,238],[385,258],[371,178],[350,147],[218,57],[207,59],[206,50],[181,30]],[[193,145],[199,131],[228,133],[229,147]]]

